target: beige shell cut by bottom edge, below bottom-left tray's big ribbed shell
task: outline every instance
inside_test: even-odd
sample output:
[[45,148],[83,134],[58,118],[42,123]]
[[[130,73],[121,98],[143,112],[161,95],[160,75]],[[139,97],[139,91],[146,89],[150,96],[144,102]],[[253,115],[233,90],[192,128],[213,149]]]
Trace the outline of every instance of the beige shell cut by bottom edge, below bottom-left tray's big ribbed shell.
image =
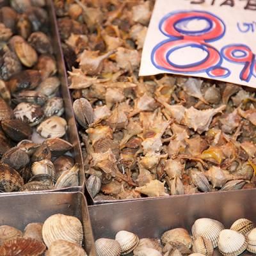
[[45,256],[86,256],[83,248],[77,244],[65,240],[56,240],[52,242]]

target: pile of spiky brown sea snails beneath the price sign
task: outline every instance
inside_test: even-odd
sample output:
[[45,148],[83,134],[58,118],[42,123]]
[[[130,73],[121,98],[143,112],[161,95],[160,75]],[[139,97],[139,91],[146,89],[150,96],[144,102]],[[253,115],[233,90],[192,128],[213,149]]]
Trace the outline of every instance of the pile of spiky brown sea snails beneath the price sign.
[[54,3],[94,200],[255,188],[255,92],[138,77],[152,0]]

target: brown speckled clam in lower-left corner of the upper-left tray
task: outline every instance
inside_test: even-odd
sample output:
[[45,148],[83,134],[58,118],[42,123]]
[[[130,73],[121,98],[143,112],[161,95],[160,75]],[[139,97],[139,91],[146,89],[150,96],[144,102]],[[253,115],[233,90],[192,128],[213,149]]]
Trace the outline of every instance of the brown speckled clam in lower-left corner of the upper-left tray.
[[8,164],[0,164],[0,190],[4,192],[18,191],[24,185],[24,180]]

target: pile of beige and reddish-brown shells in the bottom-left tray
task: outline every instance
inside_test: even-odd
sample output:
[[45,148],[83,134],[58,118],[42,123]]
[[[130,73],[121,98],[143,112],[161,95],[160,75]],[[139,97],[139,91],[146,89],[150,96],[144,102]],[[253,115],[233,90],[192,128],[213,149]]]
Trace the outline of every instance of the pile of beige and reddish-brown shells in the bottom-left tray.
[[0,226],[1,256],[86,256],[82,243],[83,226],[73,216],[54,214],[44,223],[29,223],[24,232]]

